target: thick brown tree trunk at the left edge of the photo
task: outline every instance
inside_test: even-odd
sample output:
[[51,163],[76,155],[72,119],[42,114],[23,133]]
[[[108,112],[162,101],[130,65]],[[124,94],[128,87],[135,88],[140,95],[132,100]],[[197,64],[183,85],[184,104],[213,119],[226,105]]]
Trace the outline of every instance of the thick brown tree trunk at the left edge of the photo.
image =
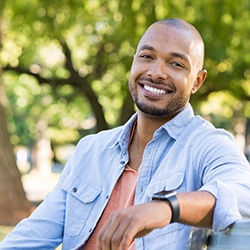
[[0,78],[0,224],[15,225],[30,214],[32,204],[26,198],[13,147],[10,143],[5,115],[5,101],[6,95]]

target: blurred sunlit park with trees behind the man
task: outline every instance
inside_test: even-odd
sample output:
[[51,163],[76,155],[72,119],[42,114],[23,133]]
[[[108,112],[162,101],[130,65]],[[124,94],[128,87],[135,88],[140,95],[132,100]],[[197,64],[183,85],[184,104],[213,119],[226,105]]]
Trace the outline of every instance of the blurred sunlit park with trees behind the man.
[[205,41],[196,114],[249,157],[249,0],[1,0],[0,240],[53,188],[81,137],[134,113],[133,54],[165,17],[187,20]]

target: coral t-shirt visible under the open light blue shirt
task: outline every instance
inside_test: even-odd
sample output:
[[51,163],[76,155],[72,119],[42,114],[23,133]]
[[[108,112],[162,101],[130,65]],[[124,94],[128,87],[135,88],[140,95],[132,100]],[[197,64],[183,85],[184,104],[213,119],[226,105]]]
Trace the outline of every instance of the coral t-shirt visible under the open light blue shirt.
[[[132,206],[134,204],[137,178],[138,178],[138,172],[127,165],[123,173],[119,177],[118,181],[116,182],[116,185],[108,201],[108,204],[100,220],[98,221],[97,226],[95,227],[92,235],[90,236],[89,240],[86,242],[86,244],[83,246],[82,249],[84,250],[96,249],[98,233],[101,227],[109,218],[111,212],[121,208]],[[134,249],[135,249],[135,244],[133,242],[129,247],[129,250],[134,250]]]

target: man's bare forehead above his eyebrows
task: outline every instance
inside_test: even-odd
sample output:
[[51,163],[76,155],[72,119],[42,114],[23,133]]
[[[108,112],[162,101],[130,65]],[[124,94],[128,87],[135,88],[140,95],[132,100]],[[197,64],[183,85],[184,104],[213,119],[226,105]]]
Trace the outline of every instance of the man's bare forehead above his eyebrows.
[[194,43],[195,39],[192,32],[186,29],[175,28],[165,24],[154,24],[142,36],[137,50],[141,50],[145,45],[149,45],[154,50],[159,50],[163,53],[192,54]]

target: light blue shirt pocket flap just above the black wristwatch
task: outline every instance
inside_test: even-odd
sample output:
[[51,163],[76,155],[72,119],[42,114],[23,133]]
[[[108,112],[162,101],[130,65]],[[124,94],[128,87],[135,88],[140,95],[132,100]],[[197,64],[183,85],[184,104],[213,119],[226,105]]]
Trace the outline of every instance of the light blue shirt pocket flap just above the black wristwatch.
[[146,189],[146,195],[152,198],[154,193],[160,192],[162,190],[177,190],[178,192],[184,192],[184,177],[185,171],[170,174],[166,178],[161,178],[153,180]]

